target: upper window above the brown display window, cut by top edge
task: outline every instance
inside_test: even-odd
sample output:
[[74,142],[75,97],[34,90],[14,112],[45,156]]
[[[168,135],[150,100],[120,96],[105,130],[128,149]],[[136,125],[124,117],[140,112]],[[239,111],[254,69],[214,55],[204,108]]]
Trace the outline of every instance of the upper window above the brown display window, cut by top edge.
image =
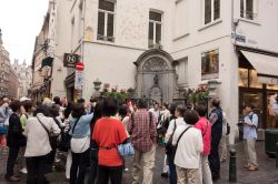
[[220,18],[220,0],[205,0],[205,24]]

